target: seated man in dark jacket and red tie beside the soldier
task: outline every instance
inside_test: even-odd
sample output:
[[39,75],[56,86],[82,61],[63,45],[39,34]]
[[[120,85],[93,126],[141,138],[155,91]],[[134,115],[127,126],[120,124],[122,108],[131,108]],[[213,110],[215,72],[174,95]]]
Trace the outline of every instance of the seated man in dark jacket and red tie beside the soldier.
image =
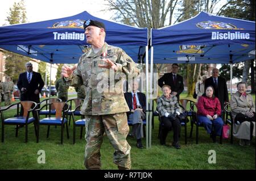
[[143,119],[146,118],[146,95],[138,92],[139,82],[133,82],[133,92],[125,93],[125,100],[129,106],[128,120],[133,124],[132,134],[137,138],[137,147],[143,148]]

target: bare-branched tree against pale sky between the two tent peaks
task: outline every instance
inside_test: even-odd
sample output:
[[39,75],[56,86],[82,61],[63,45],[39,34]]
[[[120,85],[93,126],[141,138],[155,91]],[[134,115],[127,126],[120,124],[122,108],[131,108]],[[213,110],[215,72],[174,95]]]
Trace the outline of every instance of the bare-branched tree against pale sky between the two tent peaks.
[[[116,11],[115,20],[137,27],[160,28],[171,25],[177,0],[105,0],[107,11]],[[168,20],[169,19],[169,20]]]

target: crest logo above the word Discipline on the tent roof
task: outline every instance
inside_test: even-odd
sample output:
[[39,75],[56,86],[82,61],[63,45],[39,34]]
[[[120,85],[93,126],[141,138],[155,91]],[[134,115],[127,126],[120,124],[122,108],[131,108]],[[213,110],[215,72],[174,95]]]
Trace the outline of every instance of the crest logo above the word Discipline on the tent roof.
[[214,29],[214,30],[243,30],[243,28],[237,28],[233,24],[224,22],[200,22],[196,24],[197,27],[202,29]]

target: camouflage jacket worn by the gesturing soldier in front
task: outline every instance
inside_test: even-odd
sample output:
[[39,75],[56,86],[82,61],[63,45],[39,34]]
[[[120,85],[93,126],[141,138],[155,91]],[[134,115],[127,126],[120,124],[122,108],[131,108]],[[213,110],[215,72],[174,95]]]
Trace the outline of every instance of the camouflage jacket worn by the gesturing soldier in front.
[[[102,52],[117,65],[118,70],[99,68]],[[93,49],[82,54],[74,73],[64,78],[71,86],[85,86],[85,100],[81,108],[83,115],[109,115],[129,111],[123,95],[126,76],[137,77],[139,70],[135,62],[121,49],[104,44],[98,53]],[[103,88],[102,88],[103,87]]]

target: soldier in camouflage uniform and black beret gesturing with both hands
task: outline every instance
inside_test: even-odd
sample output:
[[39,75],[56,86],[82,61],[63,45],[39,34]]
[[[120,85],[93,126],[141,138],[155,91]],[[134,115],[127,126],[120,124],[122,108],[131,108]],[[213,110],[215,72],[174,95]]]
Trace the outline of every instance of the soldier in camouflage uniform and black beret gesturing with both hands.
[[[86,42],[92,44],[92,49],[82,54],[79,63],[73,68],[63,66],[62,75],[70,85],[85,86],[85,100],[81,108],[81,114],[85,115],[86,169],[100,169],[100,147],[103,134],[106,132],[110,143],[115,149],[113,159],[118,169],[130,169],[130,145],[126,141],[129,133],[126,112],[129,111],[122,92],[122,79],[109,80],[110,76],[124,73],[125,75],[138,75],[138,68],[134,61],[118,47],[105,43],[105,26],[95,20],[86,20],[84,23]],[[107,52],[105,54],[104,52]],[[103,60],[102,55],[106,55]],[[113,74],[114,75],[113,75]],[[111,75],[112,74],[112,75]],[[102,76],[103,75],[103,76]],[[114,91],[99,91],[98,85],[102,79],[110,81],[115,86]],[[102,78],[101,77],[101,78]],[[105,84],[104,84],[105,85]],[[112,87],[113,88],[113,87]]]

